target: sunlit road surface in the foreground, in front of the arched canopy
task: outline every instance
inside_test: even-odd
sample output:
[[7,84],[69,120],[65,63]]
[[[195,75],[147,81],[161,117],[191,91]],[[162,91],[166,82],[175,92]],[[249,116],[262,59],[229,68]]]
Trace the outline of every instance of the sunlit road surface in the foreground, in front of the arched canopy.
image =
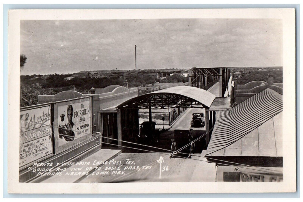
[[[122,153],[111,164],[94,168],[80,183],[106,182],[215,182],[215,164],[204,157],[169,158],[169,153]],[[157,160],[163,158],[160,164]],[[115,164],[113,164],[115,162]]]

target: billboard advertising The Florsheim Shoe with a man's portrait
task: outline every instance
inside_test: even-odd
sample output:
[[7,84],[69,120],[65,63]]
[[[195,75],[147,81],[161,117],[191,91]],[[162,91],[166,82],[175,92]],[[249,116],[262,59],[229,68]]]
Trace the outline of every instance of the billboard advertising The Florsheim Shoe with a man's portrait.
[[54,103],[55,154],[92,137],[92,97]]

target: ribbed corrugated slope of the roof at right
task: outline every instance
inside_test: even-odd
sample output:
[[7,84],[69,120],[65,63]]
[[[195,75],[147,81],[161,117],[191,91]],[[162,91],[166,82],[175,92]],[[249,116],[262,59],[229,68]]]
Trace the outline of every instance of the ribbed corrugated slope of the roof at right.
[[282,95],[269,88],[230,110],[220,111],[206,155],[221,150],[282,111]]

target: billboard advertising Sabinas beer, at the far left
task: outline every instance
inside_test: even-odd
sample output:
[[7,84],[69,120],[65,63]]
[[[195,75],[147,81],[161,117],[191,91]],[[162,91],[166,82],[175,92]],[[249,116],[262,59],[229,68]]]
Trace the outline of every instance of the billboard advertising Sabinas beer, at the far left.
[[50,104],[21,108],[19,128],[20,168],[53,153]]

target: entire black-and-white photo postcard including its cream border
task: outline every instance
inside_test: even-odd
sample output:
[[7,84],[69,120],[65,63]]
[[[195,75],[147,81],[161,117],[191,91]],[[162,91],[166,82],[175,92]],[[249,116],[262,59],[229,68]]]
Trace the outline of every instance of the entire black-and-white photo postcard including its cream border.
[[8,193],[296,191],[295,9],[10,10],[8,51]]

